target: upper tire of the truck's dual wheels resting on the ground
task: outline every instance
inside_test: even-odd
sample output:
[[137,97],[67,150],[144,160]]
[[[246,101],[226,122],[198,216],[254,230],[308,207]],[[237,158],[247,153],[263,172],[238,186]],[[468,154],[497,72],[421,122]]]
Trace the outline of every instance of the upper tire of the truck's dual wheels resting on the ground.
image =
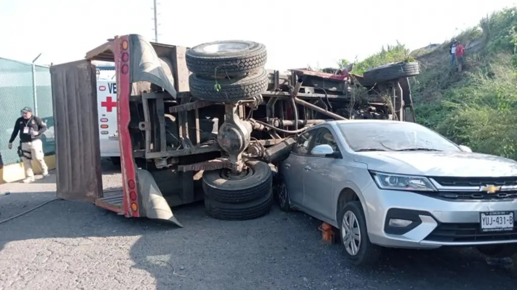
[[260,160],[248,160],[249,174],[242,179],[226,179],[223,170],[203,173],[203,191],[208,199],[237,204],[251,202],[269,194],[273,174],[269,165]]

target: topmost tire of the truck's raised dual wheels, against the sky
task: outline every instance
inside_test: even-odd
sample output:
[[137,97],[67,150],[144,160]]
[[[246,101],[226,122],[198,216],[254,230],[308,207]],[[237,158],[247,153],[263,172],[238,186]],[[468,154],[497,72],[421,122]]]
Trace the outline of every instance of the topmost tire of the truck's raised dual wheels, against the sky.
[[264,44],[253,41],[215,41],[192,47],[186,60],[187,68],[194,74],[233,76],[264,68],[267,50]]

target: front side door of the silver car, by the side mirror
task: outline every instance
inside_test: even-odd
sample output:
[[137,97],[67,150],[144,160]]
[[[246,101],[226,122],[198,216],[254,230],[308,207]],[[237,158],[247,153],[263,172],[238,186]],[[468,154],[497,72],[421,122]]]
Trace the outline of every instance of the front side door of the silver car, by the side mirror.
[[[334,152],[340,152],[336,135],[328,127],[321,127],[315,134],[312,148],[328,144]],[[309,151],[310,152],[310,151]],[[337,174],[336,165],[342,160],[337,156],[316,157],[310,153],[303,166],[303,207],[311,215],[326,220],[334,219],[333,197]]]

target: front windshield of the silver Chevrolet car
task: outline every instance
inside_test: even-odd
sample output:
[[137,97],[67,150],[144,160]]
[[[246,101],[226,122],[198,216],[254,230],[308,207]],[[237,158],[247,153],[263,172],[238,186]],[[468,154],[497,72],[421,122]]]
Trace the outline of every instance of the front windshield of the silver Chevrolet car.
[[354,151],[461,151],[438,133],[410,122],[349,122],[339,127]]

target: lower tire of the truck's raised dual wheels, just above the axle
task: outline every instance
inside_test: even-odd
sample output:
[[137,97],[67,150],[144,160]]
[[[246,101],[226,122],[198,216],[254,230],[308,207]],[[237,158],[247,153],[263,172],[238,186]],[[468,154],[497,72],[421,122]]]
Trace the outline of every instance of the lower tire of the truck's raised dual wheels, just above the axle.
[[[209,79],[191,74],[189,77],[190,93],[201,101],[236,102],[248,100],[267,90],[268,73],[260,69],[245,77]],[[215,86],[219,84],[218,90]]]

